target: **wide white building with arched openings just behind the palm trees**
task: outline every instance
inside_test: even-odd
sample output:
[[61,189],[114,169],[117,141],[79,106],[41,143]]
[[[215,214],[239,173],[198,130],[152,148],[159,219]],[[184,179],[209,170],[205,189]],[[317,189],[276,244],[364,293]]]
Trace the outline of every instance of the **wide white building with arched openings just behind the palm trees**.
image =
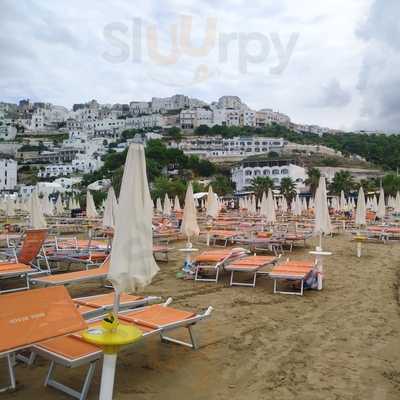
[[289,177],[295,184],[297,191],[305,189],[307,173],[305,168],[295,165],[291,160],[264,160],[243,161],[232,170],[232,181],[236,190],[242,191],[251,186],[251,181],[260,177],[270,177],[275,186],[279,186],[282,178]]

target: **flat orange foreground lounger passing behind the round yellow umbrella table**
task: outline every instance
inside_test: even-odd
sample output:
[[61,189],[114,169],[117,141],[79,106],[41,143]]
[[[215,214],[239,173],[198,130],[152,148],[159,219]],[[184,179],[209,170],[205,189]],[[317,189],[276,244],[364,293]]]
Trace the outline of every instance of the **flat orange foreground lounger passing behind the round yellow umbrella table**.
[[[163,305],[157,304],[138,310],[121,312],[119,314],[120,323],[135,325],[142,331],[144,340],[153,335],[160,335],[161,340],[164,342],[197,349],[199,345],[194,335],[193,327],[201,320],[210,317],[212,307],[209,307],[203,313],[196,314],[168,307],[171,301],[171,299],[168,299]],[[99,322],[99,319],[92,320],[89,322],[89,327],[96,328]],[[180,328],[188,330],[189,342],[177,340],[166,335],[168,332]],[[127,348],[132,346],[134,345],[129,345]],[[75,334],[38,343],[33,346],[32,351],[50,361],[45,386],[51,386],[77,399],[85,400],[90,389],[96,364],[103,356],[103,352],[99,347],[84,342],[81,338],[81,333],[76,332]],[[84,377],[84,383],[79,391],[53,378],[56,365],[75,368],[88,364],[89,367]]]

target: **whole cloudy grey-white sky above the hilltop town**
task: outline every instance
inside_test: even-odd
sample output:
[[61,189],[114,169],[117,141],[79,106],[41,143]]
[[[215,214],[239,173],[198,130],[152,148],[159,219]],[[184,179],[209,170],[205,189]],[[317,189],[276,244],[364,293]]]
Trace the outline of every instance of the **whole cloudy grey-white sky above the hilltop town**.
[[238,95],[400,131],[398,0],[0,0],[0,101]]

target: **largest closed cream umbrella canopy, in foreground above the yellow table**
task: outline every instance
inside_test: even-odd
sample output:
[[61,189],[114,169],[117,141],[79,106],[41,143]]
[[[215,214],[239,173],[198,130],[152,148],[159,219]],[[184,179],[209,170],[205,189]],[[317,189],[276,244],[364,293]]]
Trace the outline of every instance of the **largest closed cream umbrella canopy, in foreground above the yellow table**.
[[119,293],[147,286],[159,271],[153,257],[150,201],[144,148],[131,144],[122,177],[108,273]]

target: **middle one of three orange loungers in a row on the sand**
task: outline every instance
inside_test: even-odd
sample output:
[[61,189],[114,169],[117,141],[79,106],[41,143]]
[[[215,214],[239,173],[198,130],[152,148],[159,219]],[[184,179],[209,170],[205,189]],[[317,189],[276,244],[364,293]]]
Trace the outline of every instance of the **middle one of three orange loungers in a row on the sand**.
[[[241,258],[237,261],[233,261],[224,267],[226,271],[230,271],[231,279],[230,286],[256,286],[257,274],[265,274],[261,272],[261,269],[267,265],[273,265],[279,257],[274,256],[249,256]],[[251,283],[234,281],[234,274],[236,273],[247,273],[253,276]]]

